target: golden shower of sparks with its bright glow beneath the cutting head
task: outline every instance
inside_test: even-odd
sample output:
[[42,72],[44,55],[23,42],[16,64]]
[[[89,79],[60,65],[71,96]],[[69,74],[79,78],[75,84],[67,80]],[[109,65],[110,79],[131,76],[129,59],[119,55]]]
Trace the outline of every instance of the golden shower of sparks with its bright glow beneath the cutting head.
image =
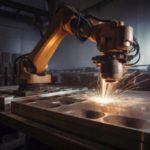
[[130,90],[137,89],[142,83],[149,81],[144,79],[137,81],[143,73],[133,72],[131,74],[125,74],[124,78],[117,83],[106,83],[104,79],[99,76],[97,82],[97,91],[93,95],[88,96],[89,100],[92,100],[100,104],[110,104],[124,99],[124,96]]

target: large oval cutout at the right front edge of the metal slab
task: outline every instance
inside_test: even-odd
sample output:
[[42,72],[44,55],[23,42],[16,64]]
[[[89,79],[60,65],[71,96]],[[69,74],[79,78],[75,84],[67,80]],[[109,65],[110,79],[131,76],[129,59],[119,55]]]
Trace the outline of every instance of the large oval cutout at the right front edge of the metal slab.
[[149,129],[150,121],[123,116],[107,116],[104,121],[110,124],[131,127],[136,129]]

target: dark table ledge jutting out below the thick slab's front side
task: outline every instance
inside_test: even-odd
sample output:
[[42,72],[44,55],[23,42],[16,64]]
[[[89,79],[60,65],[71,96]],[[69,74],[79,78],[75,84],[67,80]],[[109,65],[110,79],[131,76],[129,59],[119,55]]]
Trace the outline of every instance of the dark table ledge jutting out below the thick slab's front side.
[[0,122],[7,124],[7,126],[20,130],[40,142],[55,147],[57,150],[114,150],[108,146],[82,139],[10,112],[0,113],[0,118]]

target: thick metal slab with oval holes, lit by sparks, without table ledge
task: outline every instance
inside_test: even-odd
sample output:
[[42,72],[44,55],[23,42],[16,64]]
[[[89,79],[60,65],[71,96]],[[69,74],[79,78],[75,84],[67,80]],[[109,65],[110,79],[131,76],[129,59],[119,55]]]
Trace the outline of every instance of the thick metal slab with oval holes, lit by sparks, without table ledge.
[[79,98],[81,94],[28,99],[13,102],[12,112],[96,143],[149,149],[149,94],[136,97],[136,92],[129,92],[121,102],[107,105]]

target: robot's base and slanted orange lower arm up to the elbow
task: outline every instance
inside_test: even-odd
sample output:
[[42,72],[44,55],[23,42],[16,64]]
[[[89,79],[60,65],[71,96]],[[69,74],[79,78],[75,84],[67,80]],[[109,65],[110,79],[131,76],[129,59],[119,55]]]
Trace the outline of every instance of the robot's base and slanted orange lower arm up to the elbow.
[[63,6],[58,9],[48,31],[34,50],[17,58],[15,70],[19,84],[51,83],[51,75],[45,70],[60,42],[71,34],[70,21],[75,17],[72,8]]

